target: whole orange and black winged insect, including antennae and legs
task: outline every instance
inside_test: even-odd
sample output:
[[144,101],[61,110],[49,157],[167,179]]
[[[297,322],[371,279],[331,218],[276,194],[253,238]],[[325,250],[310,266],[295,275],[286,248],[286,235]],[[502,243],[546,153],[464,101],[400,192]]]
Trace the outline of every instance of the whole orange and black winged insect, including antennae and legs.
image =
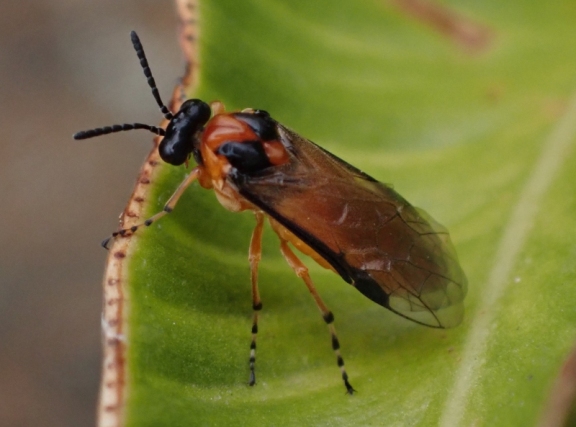
[[[334,316],[289,243],[339,274],[367,298],[402,317],[436,328],[460,323],[467,280],[446,229],[392,188],[285,128],[265,111],[225,112],[219,102],[209,106],[199,99],[189,99],[178,112],[171,113],[160,99],[134,32],[132,42],[156,102],[170,120],[168,126],[114,125],[79,132],[74,137],[147,129],[164,137],[158,150],[167,163],[187,165],[190,157],[196,160],[197,166],[164,210],[142,225],[148,226],[171,212],[195,180],[213,189],[226,209],[254,212],[256,227],[249,250],[254,310],[250,385],[256,382],[256,336],[262,308],[258,263],[266,217],[280,239],[282,255],[306,284],[328,325],[348,393],[354,389],[340,354]],[[120,230],[112,237],[130,235],[138,228]]]

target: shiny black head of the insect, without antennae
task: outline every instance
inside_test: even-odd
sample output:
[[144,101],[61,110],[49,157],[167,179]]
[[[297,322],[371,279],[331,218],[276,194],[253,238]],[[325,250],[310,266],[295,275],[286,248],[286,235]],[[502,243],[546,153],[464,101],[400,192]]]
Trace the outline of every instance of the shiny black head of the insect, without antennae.
[[210,107],[199,99],[185,101],[174,114],[158,147],[160,157],[171,165],[181,165],[198,145],[196,133],[210,120]]

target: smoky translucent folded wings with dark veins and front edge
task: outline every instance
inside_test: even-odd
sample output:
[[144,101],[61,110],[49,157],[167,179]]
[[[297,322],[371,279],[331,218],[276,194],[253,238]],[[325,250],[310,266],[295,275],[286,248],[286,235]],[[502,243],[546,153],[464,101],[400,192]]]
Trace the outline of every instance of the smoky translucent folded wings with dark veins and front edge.
[[424,211],[278,125],[291,161],[230,183],[374,302],[426,326],[462,320],[467,280],[448,232]]

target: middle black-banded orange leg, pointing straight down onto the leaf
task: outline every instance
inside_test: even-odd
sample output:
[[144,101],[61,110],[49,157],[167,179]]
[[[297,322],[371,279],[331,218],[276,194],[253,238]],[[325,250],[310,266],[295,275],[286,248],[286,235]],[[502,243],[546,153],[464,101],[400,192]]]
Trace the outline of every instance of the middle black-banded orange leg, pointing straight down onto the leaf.
[[248,384],[256,384],[256,374],[254,368],[256,365],[256,336],[258,335],[258,313],[262,310],[262,301],[260,301],[260,292],[258,291],[258,264],[262,258],[262,228],[264,225],[264,214],[254,212],[256,216],[256,227],[252,232],[250,240],[250,280],[252,282],[252,342],[250,343],[250,380]]

